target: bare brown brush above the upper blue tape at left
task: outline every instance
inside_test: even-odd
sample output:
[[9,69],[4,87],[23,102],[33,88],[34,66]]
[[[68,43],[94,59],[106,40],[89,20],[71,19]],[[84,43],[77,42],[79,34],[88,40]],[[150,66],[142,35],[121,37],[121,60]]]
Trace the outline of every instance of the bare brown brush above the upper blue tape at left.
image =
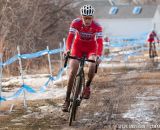
[[1,0],[0,51],[4,60],[16,53],[59,47],[68,32],[74,9],[72,0]]

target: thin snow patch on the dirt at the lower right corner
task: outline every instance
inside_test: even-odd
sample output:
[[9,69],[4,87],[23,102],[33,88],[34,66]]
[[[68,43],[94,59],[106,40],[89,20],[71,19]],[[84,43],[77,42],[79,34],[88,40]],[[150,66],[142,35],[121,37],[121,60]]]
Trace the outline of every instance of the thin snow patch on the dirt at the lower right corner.
[[148,124],[155,119],[156,113],[154,113],[159,99],[159,96],[149,96],[148,94],[152,93],[155,95],[155,92],[158,88],[148,88],[144,93],[137,96],[138,101],[135,104],[131,105],[131,109],[123,114],[123,118],[129,118],[134,121],[137,121],[142,124]]

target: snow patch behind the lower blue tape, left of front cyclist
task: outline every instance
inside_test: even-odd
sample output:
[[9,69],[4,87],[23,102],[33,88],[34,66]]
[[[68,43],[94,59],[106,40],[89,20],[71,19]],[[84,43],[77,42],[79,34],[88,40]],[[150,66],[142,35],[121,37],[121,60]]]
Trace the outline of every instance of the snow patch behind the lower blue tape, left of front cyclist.
[[[66,93],[66,87],[62,87],[61,86],[57,86],[55,85],[56,83],[62,83],[63,80],[66,80],[67,76],[64,76],[62,78],[60,78],[59,80],[56,81],[51,81],[48,86],[46,87],[46,90],[44,92],[40,91],[40,88],[48,81],[48,77],[42,77],[40,76],[39,78],[32,78],[28,76],[28,79],[25,79],[24,82],[26,85],[30,86],[31,88],[33,88],[36,93],[28,93],[25,91],[26,94],[26,99],[27,100],[37,100],[37,99],[55,99],[55,98],[60,98],[65,96]],[[19,83],[19,80],[17,81],[17,78],[11,78],[11,80],[6,81],[6,85],[15,85]],[[4,83],[5,84],[5,83]],[[32,87],[34,86],[34,87]],[[5,88],[5,90],[7,90],[6,92],[2,92],[1,95],[4,97],[10,97],[13,94],[15,94],[18,90],[20,89],[20,87],[15,87],[13,89],[11,88]],[[21,95],[19,95],[18,99],[23,99],[23,92]]]

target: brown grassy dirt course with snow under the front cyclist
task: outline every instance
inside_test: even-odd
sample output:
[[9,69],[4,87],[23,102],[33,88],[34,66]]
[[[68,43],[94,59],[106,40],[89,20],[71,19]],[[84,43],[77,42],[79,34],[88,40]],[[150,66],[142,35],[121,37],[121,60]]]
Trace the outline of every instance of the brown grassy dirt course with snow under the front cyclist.
[[159,130],[160,73],[154,64],[143,69],[99,69],[89,100],[83,100],[78,116],[68,126],[69,113],[61,111],[63,97],[13,101],[12,112],[1,107],[0,130]]

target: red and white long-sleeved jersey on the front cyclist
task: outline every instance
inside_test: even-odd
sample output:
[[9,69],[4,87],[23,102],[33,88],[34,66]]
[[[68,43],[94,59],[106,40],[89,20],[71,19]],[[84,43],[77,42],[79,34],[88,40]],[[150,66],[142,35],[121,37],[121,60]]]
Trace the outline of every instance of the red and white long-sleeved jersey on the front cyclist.
[[74,19],[70,25],[66,49],[70,50],[73,44],[88,48],[96,44],[97,55],[100,56],[103,50],[102,27],[94,20],[90,26],[85,26],[81,18]]

